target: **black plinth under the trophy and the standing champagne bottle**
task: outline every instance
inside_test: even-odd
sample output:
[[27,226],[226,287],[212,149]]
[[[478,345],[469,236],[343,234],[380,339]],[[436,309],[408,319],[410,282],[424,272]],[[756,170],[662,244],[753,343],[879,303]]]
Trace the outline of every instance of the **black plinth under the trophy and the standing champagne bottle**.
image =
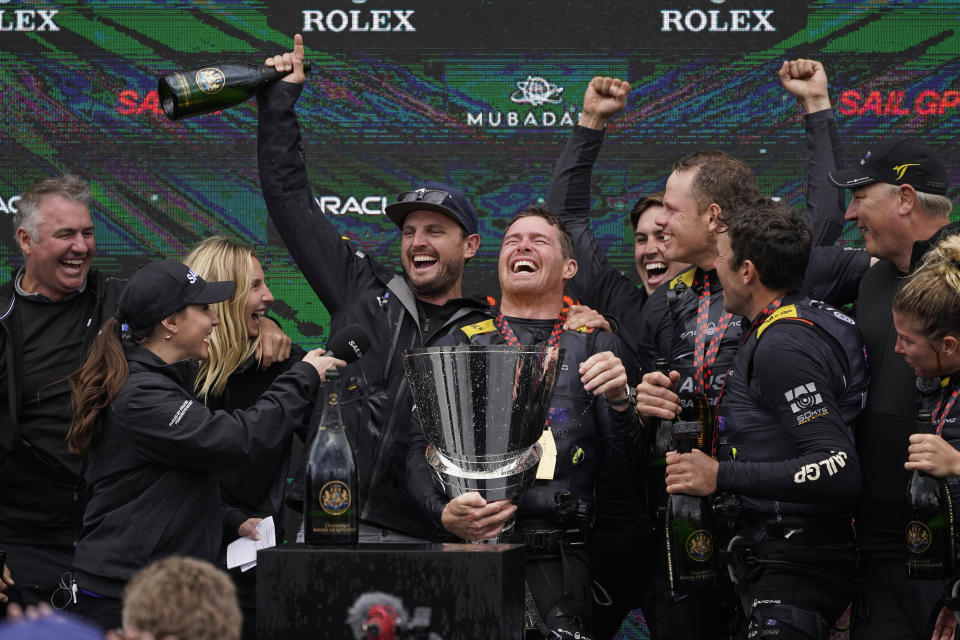
[[411,615],[430,607],[430,630],[443,640],[519,640],[523,563],[515,544],[267,549],[257,554],[257,637],[352,640],[349,610],[364,594],[382,592]]

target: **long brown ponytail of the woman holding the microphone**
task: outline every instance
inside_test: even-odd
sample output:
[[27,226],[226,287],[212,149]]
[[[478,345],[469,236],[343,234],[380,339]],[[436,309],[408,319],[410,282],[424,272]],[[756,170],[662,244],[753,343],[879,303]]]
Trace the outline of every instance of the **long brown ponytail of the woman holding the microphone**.
[[125,321],[124,312],[117,309],[93,339],[83,364],[67,378],[70,382],[71,413],[67,447],[74,453],[85,453],[97,441],[101,413],[113,403],[130,376],[123,342],[142,343],[157,326],[131,329],[121,338],[120,331]]

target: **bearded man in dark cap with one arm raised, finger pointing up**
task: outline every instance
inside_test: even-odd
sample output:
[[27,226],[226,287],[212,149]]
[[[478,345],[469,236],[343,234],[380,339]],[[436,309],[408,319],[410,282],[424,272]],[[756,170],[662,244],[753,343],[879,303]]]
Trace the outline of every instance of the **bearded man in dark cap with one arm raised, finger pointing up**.
[[357,454],[360,541],[419,542],[436,527],[417,512],[405,478],[409,412],[400,356],[465,322],[487,317],[464,300],[463,268],[480,244],[477,214],[453,187],[415,185],[387,206],[401,229],[403,274],[343,239],[315,207],[294,104],[305,80],[303,40],[267,60],[292,72],[261,92],[257,135],[260,180],[270,217],[314,292],[331,329],[358,323],[372,338],[363,358],[341,372],[344,422]]

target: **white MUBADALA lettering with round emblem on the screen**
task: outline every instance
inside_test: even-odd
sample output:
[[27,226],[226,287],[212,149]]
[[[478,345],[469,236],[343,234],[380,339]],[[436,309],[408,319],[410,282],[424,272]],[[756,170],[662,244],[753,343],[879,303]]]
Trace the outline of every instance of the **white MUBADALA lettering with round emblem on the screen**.
[[530,105],[527,111],[477,111],[467,113],[467,124],[476,127],[572,127],[575,123],[575,107],[555,111],[543,107],[563,104],[563,87],[543,76],[528,75],[518,80],[510,93],[510,102]]

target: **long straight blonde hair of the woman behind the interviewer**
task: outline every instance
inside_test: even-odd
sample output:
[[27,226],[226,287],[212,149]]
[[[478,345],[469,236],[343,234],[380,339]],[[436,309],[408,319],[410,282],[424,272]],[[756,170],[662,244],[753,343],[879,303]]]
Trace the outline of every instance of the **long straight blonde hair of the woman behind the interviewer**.
[[227,379],[246,362],[260,346],[260,336],[247,336],[246,304],[253,287],[253,247],[243,242],[213,236],[198,244],[183,261],[208,282],[233,280],[233,294],[223,302],[210,305],[220,324],[210,334],[210,355],[200,363],[194,386],[202,399],[220,396]]

